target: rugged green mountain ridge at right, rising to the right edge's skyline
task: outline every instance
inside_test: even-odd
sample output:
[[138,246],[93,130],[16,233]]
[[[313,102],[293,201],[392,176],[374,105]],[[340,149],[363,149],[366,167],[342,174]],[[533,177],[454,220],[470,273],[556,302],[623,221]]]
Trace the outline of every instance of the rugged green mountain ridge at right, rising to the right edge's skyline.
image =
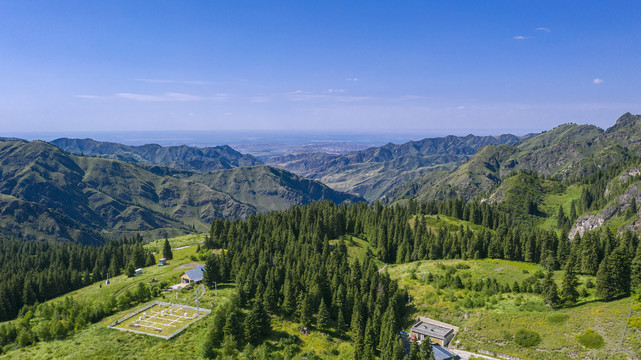
[[398,187],[389,198],[470,199],[487,195],[518,171],[574,179],[638,155],[638,139],[641,117],[629,113],[605,132],[593,125],[565,124],[515,145],[487,146],[446,176],[426,175]]

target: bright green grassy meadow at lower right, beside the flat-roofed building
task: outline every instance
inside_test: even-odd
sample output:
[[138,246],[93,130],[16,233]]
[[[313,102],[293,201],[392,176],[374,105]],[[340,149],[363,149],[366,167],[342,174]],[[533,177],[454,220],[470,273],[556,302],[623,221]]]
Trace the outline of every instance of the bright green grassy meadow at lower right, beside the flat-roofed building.
[[[619,345],[631,299],[601,302],[594,298],[594,289],[587,289],[589,296],[581,298],[574,307],[552,309],[543,303],[538,294],[503,293],[486,295],[467,289],[439,288],[424,280],[428,273],[445,274],[456,265],[455,274],[465,279],[494,278],[498,283],[522,281],[543,268],[537,264],[504,260],[439,260],[419,261],[390,265],[387,270],[393,279],[407,287],[411,296],[412,318],[428,316],[460,327],[455,338],[459,347],[476,351],[484,349],[518,356],[524,359],[559,358],[625,358]],[[460,264],[464,264],[461,266]],[[469,266],[469,269],[465,269]],[[560,286],[562,272],[555,273]],[[592,276],[580,277],[580,289]],[[466,300],[481,304],[466,307]],[[406,324],[407,329],[411,323]],[[536,347],[525,348],[513,341],[519,329],[532,330],[541,336]],[[577,337],[593,329],[603,337],[604,345],[589,349]],[[615,355],[617,354],[617,355]]]

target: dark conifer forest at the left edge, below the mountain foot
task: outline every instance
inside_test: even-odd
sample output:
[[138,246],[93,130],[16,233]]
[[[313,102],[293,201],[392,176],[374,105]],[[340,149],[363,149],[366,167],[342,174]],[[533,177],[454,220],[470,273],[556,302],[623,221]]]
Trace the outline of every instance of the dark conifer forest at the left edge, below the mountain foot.
[[25,305],[66,294],[122,273],[128,266],[153,265],[142,237],[123,237],[95,247],[75,243],[0,239],[0,321]]

